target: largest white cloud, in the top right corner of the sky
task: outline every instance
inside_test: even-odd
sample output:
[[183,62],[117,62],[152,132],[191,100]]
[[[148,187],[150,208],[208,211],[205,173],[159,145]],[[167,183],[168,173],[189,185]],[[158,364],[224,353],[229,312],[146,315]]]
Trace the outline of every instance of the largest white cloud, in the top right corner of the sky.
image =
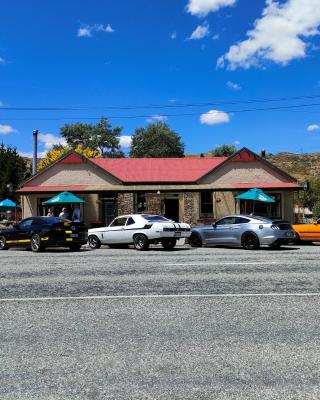
[[262,17],[247,32],[248,39],[231,46],[217,66],[247,69],[266,60],[286,65],[306,56],[307,39],[319,35],[319,25],[319,0],[287,0],[281,4],[266,0]]

